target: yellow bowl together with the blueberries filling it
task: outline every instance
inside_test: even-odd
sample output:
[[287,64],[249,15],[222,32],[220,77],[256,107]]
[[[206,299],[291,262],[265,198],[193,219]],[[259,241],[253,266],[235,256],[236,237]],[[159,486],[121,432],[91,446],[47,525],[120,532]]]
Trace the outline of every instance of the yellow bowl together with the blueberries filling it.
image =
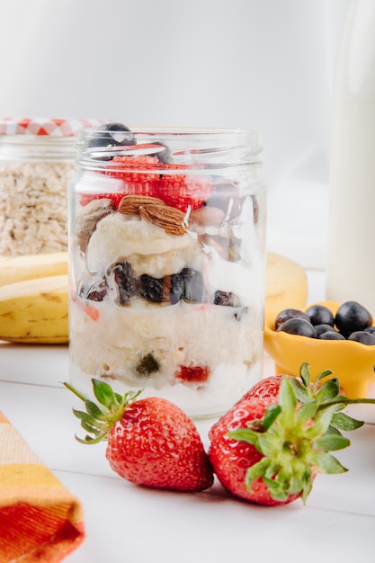
[[374,319],[357,301],[286,308],[264,326],[264,349],[275,372],[299,376],[308,362],[311,379],[331,370],[348,398],[366,397],[375,382]]

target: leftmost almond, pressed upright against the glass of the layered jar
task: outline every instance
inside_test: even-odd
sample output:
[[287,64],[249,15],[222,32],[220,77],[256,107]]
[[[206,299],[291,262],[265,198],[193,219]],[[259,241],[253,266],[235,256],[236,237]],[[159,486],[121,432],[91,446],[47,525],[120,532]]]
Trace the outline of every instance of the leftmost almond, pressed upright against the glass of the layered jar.
[[115,204],[108,198],[87,203],[76,216],[76,238],[79,248],[85,252],[87,243],[94,233],[97,223],[116,210]]

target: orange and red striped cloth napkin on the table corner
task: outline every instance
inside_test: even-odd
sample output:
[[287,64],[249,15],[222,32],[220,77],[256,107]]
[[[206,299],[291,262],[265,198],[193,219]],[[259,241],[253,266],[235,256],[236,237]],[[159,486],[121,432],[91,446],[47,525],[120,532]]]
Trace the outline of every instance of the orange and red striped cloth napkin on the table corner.
[[84,538],[79,501],[0,413],[0,561],[57,563]]

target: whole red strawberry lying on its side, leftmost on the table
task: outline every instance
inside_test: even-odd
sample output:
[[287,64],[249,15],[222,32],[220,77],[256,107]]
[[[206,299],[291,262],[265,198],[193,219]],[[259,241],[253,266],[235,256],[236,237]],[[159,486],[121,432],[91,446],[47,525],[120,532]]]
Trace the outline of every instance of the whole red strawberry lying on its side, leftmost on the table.
[[86,413],[73,412],[86,432],[83,443],[107,440],[106,458],[122,478],[138,485],[201,491],[213,483],[210,460],[201,436],[183,410],[164,398],[138,399],[139,393],[114,393],[93,380],[100,406],[65,383],[85,401]]

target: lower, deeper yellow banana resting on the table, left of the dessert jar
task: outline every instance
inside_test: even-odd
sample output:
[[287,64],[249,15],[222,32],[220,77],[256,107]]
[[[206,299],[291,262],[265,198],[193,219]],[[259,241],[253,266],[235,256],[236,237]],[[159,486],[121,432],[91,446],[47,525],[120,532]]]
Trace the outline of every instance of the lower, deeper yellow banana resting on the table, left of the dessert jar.
[[0,340],[66,344],[67,287],[67,274],[0,287]]

